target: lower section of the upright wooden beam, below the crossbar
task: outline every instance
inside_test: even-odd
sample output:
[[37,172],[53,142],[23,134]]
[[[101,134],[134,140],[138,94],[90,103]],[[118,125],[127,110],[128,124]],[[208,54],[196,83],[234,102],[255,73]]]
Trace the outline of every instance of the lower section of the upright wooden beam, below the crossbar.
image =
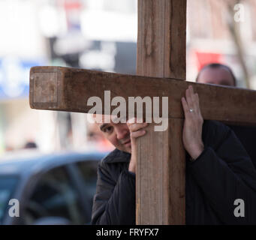
[[185,223],[185,149],[179,118],[137,140],[137,224]]

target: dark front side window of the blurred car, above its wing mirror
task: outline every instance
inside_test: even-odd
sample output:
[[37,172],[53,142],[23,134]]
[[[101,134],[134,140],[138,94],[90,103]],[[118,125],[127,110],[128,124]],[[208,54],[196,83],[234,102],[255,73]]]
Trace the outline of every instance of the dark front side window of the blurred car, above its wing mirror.
[[72,224],[83,223],[77,189],[64,167],[47,172],[38,181],[25,212],[26,224],[41,217],[65,217]]

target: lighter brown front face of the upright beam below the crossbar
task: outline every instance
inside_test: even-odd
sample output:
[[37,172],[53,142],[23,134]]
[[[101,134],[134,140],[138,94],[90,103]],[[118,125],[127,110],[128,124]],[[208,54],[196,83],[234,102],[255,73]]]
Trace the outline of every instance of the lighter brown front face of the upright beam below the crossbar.
[[164,224],[167,218],[168,208],[164,203],[169,199],[169,184],[164,166],[167,161],[163,159],[169,157],[169,136],[167,130],[154,132],[154,126],[150,124],[146,136],[137,139],[137,224]]

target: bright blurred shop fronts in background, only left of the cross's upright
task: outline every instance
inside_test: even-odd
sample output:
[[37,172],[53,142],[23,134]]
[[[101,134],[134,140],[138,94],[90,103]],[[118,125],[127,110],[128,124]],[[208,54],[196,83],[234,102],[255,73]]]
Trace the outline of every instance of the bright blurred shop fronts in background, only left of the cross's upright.
[[0,29],[0,153],[29,146],[111,150],[86,114],[30,109],[29,69],[135,74],[137,1],[2,0]]

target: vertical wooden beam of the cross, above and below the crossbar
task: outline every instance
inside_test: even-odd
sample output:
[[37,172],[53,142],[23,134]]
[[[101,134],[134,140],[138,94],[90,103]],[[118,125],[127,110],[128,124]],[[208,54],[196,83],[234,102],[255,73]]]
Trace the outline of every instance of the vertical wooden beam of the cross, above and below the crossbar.
[[[185,79],[186,0],[139,0],[137,75]],[[182,119],[137,140],[137,224],[185,223]]]

